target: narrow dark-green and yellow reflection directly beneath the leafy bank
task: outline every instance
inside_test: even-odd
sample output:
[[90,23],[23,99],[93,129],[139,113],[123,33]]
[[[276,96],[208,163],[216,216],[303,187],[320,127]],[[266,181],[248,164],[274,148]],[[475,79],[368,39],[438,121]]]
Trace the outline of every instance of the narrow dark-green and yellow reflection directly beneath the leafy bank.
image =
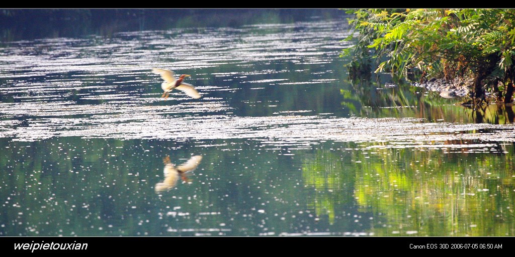
[[[424,91],[409,84],[386,88],[379,78],[348,81],[351,89],[341,89],[342,106],[353,108],[368,117],[416,117],[434,122],[511,124],[515,122],[514,106],[455,106],[455,99],[445,99],[438,92]],[[361,106],[367,106],[362,108]],[[465,115],[464,115],[465,113]]]

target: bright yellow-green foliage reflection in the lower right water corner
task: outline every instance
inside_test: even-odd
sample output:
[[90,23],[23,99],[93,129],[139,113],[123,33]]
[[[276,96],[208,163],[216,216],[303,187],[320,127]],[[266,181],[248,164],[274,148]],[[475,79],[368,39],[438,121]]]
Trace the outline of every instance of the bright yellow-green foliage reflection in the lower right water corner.
[[362,161],[355,165],[355,197],[363,211],[381,213],[391,225],[377,235],[514,235],[511,154],[385,149],[369,155],[379,162],[355,154]]

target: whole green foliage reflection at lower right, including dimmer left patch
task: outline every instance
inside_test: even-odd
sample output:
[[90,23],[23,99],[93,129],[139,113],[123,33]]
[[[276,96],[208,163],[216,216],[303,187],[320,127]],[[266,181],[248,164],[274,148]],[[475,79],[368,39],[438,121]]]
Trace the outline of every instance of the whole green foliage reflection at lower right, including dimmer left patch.
[[358,213],[371,215],[367,231],[379,236],[512,236],[513,144],[494,144],[488,148],[495,153],[369,143],[319,150],[302,166],[303,181],[312,189],[307,206],[333,223],[334,213],[341,212],[335,206],[353,203]]

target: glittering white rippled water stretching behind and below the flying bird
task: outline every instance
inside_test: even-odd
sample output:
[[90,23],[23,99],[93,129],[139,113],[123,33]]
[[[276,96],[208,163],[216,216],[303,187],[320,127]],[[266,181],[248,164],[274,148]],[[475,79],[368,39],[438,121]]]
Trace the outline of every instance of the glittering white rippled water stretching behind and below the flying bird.
[[[256,93],[268,90],[270,85],[337,83],[339,79],[320,77],[331,70],[314,72],[305,66],[273,69],[268,64],[331,63],[348,46],[342,41],[349,34],[346,28],[346,21],[321,21],[6,43],[0,49],[0,94],[8,101],[0,102],[0,137],[22,141],[69,136],[253,139],[276,148],[305,148],[320,140],[383,142],[388,147],[455,147],[427,144],[428,135],[437,142],[515,141],[513,125],[327,117],[308,115],[313,112],[310,109],[283,109],[269,117],[242,117],[233,114],[236,107],[231,106],[231,96],[217,95],[242,90],[247,83],[259,84],[251,88],[263,89],[252,90]],[[242,70],[222,69],[226,64]],[[260,64],[267,65],[257,67]],[[202,98],[193,101],[180,93],[171,94],[173,100],[159,98],[161,82],[150,74],[153,67],[177,72],[200,70],[195,79],[207,81],[197,87]],[[213,68],[213,72],[203,73],[206,67]],[[288,72],[312,72],[315,78],[293,81],[270,77]],[[209,84],[212,78],[237,80],[238,86]],[[246,99],[241,102],[250,103]],[[280,105],[276,101],[265,107]],[[298,115],[301,113],[305,115]],[[479,130],[491,132],[476,133]]]

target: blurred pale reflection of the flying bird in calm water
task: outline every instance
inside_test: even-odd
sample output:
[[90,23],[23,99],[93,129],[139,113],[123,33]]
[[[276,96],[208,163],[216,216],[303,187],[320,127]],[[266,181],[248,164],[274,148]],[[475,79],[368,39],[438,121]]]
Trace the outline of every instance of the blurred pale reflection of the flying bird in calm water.
[[179,176],[185,182],[188,181],[186,178],[186,173],[195,170],[198,167],[198,164],[202,160],[201,155],[196,155],[191,157],[189,160],[181,164],[180,166],[175,166],[170,161],[170,157],[166,156],[163,158],[164,163],[164,180],[163,182],[159,182],[156,184],[156,193],[160,193],[171,188],[174,188],[177,185],[177,180]]

